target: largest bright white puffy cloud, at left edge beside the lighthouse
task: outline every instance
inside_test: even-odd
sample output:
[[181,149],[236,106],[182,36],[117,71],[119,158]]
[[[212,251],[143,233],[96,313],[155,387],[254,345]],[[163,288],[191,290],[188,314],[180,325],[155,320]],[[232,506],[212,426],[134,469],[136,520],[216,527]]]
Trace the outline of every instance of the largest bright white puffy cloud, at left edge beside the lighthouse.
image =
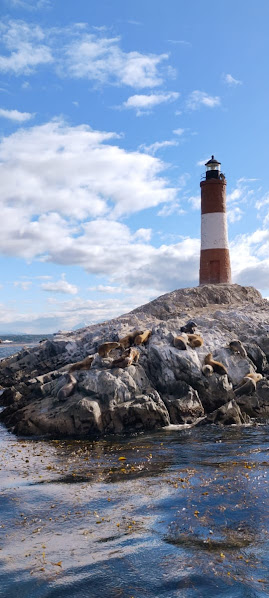
[[77,234],[75,221],[111,211],[114,216],[130,214],[174,199],[175,189],[160,176],[164,164],[107,143],[113,138],[117,135],[86,125],[52,121],[2,139],[1,215],[6,234],[0,247],[5,253],[12,247],[27,257],[40,254],[56,244],[52,231],[60,245],[66,235]]

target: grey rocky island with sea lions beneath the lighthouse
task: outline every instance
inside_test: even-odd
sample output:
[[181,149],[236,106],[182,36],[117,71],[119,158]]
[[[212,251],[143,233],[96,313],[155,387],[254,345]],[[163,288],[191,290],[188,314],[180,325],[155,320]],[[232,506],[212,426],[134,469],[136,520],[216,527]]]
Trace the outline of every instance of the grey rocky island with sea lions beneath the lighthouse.
[[236,284],[179,289],[4,359],[0,384],[19,435],[265,422],[269,302]]

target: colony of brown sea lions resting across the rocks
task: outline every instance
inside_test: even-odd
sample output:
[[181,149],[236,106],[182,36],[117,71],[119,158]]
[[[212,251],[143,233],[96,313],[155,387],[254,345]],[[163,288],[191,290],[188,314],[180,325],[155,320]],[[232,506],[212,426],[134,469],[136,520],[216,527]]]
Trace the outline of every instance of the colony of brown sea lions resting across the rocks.
[[[196,334],[195,330],[197,324],[193,321],[187,322],[185,326],[180,328],[181,334],[173,337],[173,346],[179,350],[187,351],[187,348],[196,349],[202,347],[204,344],[203,338],[200,334]],[[115,355],[115,352],[120,355],[114,356],[111,362],[111,368],[126,368],[132,364],[138,363],[140,357],[139,349],[135,346],[145,345],[152,334],[151,330],[134,330],[119,339],[116,342],[105,342],[98,346],[97,353],[101,358],[107,358],[110,354]],[[240,354],[242,357],[247,357],[245,347],[241,341],[234,339],[229,343],[229,348],[232,352]],[[66,383],[58,392],[58,398],[65,400],[70,396],[77,385],[77,380],[72,376],[72,372],[80,370],[89,370],[94,362],[96,354],[88,355],[82,361],[73,363],[66,374]],[[208,353],[204,358],[204,365],[202,366],[204,376],[212,376],[213,373],[219,376],[228,375],[228,370],[225,365],[213,359],[212,353]],[[257,372],[250,372],[235,388],[235,394],[241,396],[243,394],[251,394],[256,389],[256,384],[262,380],[263,376]]]

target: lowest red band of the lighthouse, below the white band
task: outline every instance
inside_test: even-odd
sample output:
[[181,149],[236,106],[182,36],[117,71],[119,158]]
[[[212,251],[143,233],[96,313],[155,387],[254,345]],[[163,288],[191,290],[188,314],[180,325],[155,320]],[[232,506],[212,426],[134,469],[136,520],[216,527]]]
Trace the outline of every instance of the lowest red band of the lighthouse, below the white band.
[[229,249],[202,249],[199,284],[231,283]]

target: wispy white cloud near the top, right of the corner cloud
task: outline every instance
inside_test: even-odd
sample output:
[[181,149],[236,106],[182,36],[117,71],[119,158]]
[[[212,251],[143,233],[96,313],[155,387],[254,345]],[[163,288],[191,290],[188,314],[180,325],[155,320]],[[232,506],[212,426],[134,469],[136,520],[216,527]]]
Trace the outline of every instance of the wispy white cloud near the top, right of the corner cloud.
[[168,54],[124,52],[119,37],[98,37],[84,33],[66,45],[63,74],[99,83],[128,85],[138,89],[163,83],[160,65]]

